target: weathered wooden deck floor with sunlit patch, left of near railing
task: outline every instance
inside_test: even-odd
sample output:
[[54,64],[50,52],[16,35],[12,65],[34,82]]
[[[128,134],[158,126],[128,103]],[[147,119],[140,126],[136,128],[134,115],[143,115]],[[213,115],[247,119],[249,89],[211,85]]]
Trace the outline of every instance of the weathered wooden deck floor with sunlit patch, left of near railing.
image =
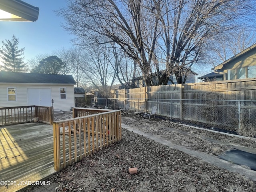
[[26,123],[0,127],[0,180],[16,182],[1,186],[0,192],[13,192],[26,186],[20,181],[38,181],[54,170],[53,127]]

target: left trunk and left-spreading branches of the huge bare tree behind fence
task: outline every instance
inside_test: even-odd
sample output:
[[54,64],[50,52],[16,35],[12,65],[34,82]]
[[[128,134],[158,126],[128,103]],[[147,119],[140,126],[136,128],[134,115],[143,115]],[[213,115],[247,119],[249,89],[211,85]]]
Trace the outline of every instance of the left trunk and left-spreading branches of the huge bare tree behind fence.
[[[149,11],[143,6],[142,0],[117,3],[112,0],[75,0],[69,3],[67,10],[62,9],[59,13],[68,24],[65,28],[78,36],[80,44],[88,44],[88,40],[89,43],[118,44],[140,66],[146,84],[151,86],[150,63],[157,33],[153,35],[150,47],[144,44],[148,35],[145,29],[152,28],[152,20],[150,23],[144,21]],[[157,31],[158,21],[154,23]]]

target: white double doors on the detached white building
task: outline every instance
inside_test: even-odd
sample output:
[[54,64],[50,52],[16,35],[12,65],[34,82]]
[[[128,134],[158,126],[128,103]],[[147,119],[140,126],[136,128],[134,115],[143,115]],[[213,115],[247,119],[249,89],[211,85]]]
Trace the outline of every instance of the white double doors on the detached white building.
[[52,106],[50,88],[28,88],[28,105]]

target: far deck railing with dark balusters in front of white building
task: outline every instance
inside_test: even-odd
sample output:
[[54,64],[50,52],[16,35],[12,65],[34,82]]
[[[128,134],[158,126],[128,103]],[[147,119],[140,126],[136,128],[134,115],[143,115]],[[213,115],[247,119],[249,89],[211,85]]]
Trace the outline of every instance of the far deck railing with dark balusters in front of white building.
[[53,108],[35,105],[0,108],[0,126],[31,122],[34,117],[38,117],[40,122],[52,124]]

